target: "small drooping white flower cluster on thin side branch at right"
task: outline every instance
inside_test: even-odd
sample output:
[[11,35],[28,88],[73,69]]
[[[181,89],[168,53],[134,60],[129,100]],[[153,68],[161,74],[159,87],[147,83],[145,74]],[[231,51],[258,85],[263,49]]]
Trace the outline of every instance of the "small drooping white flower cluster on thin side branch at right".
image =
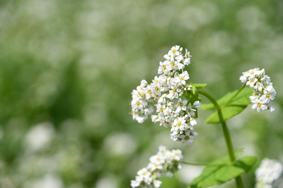
[[274,107],[271,106],[271,100],[275,99],[276,91],[273,88],[273,83],[270,82],[270,77],[265,75],[264,69],[259,68],[250,69],[243,72],[240,76],[241,82],[246,82],[247,85],[254,88],[253,95],[250,97],[252,109],[260,112],[261,110],[274,111]]

